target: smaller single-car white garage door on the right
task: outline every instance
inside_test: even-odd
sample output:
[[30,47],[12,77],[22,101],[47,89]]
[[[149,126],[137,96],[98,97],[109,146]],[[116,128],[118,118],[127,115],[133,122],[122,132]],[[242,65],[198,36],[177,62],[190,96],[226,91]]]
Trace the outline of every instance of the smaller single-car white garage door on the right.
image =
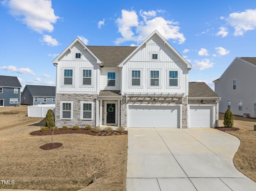
[[212,106],[190,106],[188,127],[212,127]]

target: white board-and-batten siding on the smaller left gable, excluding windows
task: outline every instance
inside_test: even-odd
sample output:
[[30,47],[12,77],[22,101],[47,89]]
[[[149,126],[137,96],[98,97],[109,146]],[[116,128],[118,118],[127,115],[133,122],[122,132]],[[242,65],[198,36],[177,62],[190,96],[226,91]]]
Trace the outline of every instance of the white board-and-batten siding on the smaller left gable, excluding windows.
[[[81,53],[80,59],[75,59],[75,53]],[[73,85],[64,85],[64,70],[73,69]],[[92,69],[92,85],[82,85],[82,70]],[[75,43],[71,51],[60,59],[57,66],[56,93],[97,93],[99,80],[99,65],[96,59],[84,49],[80,43]]]

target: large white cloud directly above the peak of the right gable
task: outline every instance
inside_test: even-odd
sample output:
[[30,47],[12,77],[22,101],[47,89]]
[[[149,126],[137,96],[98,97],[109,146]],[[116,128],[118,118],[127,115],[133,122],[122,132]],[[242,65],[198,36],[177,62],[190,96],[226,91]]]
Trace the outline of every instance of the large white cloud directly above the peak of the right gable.
[[121,33],[122,37],[116,39],[116,45],[126,41],[140,43],[154,30],[157,30],[167,40],[174,39],[180,44],[184,43],[186,38],[179,32],[178,22],[156,17],[157,12],[140,10],[142,20],[139,20],[139,16],[134,10],[122,10],[122,17],[116,20],[118,32]]

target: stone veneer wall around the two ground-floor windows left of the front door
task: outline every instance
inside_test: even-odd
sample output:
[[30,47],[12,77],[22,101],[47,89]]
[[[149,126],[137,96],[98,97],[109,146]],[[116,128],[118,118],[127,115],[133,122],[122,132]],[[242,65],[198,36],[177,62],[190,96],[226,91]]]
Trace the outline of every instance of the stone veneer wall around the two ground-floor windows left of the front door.
[[[96,94],[57,94],[56,95],[56,126],[62,128],[66,125],[68,127],[79,126],[83,128],[85,126],[96,125]],[[74,101],[73,104],[73,119],[72,120],[61,120],[60,119],[60,101]],[[94,102],[94,114],[93,120],[81,120],[81,101],[93,101]]]

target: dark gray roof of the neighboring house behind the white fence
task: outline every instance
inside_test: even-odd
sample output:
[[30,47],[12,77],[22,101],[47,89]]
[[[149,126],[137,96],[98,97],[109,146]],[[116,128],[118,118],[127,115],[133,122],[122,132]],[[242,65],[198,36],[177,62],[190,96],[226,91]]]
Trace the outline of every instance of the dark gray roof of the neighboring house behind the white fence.
[[37,85],[26,85],[22,94],[24,93],[25,89],[30,91],[32,96],[55,96],[55,86],[37,86]]

